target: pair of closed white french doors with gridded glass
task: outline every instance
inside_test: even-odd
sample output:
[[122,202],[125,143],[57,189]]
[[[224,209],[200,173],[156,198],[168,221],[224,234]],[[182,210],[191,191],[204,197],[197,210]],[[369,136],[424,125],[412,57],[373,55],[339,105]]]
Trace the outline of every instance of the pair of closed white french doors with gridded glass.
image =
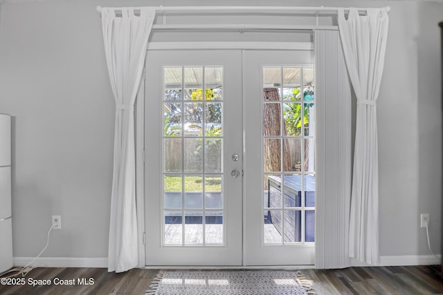
[[147,265],[314,263],[310,51],[150,51]]

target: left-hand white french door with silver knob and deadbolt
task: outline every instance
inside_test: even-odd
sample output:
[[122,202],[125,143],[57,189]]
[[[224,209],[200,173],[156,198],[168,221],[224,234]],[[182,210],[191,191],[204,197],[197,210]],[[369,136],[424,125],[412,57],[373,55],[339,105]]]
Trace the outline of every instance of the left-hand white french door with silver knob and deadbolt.
[[146,263],[242,265],[241,52],[146,64]]

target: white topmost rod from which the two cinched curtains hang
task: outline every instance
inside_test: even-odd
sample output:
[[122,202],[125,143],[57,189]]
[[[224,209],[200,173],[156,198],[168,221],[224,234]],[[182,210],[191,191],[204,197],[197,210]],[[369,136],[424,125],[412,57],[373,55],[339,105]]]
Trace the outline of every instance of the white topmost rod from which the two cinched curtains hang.
[[[140,7],[133,7],[135,10]],[[154,6],[156,12],[273,12],[273,13],[318,13],[318,12],[338,12],[338,10],[349,11],[350,8],[344,7],[307,7],[307,6]],[[368,8],[357,8],[359,11],[365,12]],[[387,12],[390,12],[390,7],[387,6]],[[102,11],[101,6],[97,6],[97,12]]]

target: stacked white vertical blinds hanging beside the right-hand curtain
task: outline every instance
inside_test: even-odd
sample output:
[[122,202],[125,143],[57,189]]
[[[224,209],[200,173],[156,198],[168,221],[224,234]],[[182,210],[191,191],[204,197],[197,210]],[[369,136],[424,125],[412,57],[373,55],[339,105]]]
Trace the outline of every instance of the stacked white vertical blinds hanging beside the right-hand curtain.
[[351,86],[340,35],[316,30],[316,268],[350,266]]

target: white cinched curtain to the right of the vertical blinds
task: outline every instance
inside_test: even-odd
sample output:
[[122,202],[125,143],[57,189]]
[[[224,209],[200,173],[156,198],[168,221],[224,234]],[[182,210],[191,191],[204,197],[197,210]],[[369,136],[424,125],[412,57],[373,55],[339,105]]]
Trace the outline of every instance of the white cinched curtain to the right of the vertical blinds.
[[379,263],[379,165],[377,97],[388,35],[388,12],[368,8],[359,15],[338,11],[343,53],[357,99],[354,171],[350,210],[349,256]]

